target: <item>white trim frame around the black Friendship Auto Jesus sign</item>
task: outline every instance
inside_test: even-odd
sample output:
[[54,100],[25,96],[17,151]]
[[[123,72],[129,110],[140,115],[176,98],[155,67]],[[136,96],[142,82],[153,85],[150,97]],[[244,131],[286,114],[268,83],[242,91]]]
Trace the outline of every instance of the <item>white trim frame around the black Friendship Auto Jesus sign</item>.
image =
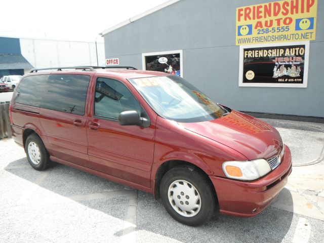
[[[244,49],[258,48],[258,47],[294,46],[294,45],[305,45],[304,80],[303,80],[303,84],[243,83],[243,59],[244,59],[244,53],[243,52],[244,52]],[[284,42],[284,43],[266,43],[266,44],[239,46],[238,86],[239,87],[307,88],[308,62],[309,62],[309,41]]]

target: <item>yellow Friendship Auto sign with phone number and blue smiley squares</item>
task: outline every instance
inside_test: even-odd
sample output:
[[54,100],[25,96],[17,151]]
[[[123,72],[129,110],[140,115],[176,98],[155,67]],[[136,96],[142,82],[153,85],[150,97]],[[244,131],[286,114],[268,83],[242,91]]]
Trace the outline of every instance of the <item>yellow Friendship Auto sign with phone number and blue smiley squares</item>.
[[236,8],[236,45],[311,41],[317,0],[278,1]]

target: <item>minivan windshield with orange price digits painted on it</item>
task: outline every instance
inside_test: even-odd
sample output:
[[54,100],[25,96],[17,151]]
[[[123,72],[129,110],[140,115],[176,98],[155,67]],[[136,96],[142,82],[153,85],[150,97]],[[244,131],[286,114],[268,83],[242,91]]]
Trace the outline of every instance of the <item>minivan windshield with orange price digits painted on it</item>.
[[228,112],[176,75],[129,80],[154,111],[167,119],[195,123],[212,120]]

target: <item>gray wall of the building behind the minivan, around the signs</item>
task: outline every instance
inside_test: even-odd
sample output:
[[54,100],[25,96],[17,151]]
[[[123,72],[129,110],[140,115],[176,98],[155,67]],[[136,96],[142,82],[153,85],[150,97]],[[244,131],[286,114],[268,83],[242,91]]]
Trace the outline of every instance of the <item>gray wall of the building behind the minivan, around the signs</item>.
[[183,77],[236,110],[324,117],[324,6],[318,1],[307,88],[238,87],[236,8],[269,0],[182,0],[104,35],[106,58],[142,69],[142,53],[183,50]]

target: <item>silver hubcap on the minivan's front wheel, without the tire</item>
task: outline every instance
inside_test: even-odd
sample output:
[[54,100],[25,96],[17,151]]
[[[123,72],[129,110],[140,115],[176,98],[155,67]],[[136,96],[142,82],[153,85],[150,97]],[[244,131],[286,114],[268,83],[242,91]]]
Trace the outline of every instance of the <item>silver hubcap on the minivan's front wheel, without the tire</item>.
[[188,181],[176,180],[171,183],[168,197],[172,208],[184,217],[193,217],[201,208],[201,198],[197,189]]

